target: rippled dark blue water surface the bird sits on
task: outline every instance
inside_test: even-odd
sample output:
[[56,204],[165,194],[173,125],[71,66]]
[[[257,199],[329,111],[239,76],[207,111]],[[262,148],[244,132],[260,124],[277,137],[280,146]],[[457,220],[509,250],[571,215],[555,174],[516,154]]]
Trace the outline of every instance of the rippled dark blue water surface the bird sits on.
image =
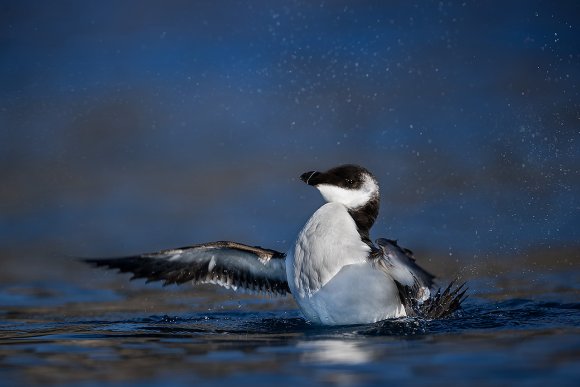
[[580,378],[575,268],[473,277],[464,308],[444,320],[320,327],[287,298],[127,283],[72,266],[72,284],[0,288],[2,384],[574,385]]

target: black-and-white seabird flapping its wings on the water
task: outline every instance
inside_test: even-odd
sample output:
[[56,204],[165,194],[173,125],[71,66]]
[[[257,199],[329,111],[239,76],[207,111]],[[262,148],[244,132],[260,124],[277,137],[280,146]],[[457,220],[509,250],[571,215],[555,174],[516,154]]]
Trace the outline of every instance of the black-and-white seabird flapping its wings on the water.
[[211,283],[233,290],[291,294],[304,318],[322,325],[367,324],[404,316],[440,318],[465,299],[453,282],[434,291],[434,276],[410,250],[369,231],[379,212],[379,185],[357,165],[300,176],[326,201],[284,254],[221,241],[121,258],[96,266],[168,284]]

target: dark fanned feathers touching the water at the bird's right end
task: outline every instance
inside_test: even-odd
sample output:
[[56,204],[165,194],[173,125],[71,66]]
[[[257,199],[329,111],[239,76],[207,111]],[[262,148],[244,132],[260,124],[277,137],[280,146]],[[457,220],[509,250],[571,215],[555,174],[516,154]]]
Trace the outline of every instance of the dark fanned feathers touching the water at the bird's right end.
[[461,304],[467,298],[465,294],[467,292],[467,287],[465,282],[459,286],[455,286],[456,281],[451,281],[449,286],[445,290],[437,290],[437,293],[426,299],[425,301],[419,301],[413,297],[412,289],[408,286],[402,286],[397,283],[399,288],[399,297],[401,302],[405,306],[407,315],[418,316],[427,319],[438,319],[447,317],[453,312],[461,308]]

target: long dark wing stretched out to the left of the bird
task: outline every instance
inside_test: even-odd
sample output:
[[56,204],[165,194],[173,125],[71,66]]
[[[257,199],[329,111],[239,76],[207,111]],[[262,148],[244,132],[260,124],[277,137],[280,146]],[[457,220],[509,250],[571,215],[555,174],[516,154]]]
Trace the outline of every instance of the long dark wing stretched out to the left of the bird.
[[164,285],[216,284],[233,290],[245,289],[284,295],[285,254],[236,242],[211,242],[120,258],[85,259],[95,266],[133,273],[131,279],[164,281]]

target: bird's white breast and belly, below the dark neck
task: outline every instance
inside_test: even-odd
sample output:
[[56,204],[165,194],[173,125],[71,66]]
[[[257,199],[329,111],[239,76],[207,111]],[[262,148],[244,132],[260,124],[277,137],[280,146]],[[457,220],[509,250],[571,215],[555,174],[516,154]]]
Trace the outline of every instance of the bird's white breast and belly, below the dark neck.
[[369,252],[343,204],[312,215],[286,257],[288,285],[306,319],[336,325],[405,315],[394,282],[368,263]]

